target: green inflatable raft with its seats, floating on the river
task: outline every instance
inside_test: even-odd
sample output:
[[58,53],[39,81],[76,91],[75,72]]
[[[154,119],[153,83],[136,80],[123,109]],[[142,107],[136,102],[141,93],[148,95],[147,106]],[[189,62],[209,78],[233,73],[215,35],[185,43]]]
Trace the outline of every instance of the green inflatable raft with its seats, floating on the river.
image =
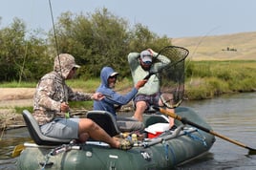
[[[179,107],[176,114],[211,129],[190,108]],[[23,117],[35,142],[24,143],[25,149],[17,160],[17,168],[24,170],[169,170],[202,156],[215,141],[214,136],[179,120],[175,120],[177,129],[166,129],[168,118],[160,113],[151,113],[144,115],[145,138],[138,138],[132,149],[124,151],[110,148],[100,141],[75,144],[69,140],[44,137],[28,111],[23,112]],[[108,113],[90,111],[87,117],[94,119],[111,136],[119,133],[113,117]]]

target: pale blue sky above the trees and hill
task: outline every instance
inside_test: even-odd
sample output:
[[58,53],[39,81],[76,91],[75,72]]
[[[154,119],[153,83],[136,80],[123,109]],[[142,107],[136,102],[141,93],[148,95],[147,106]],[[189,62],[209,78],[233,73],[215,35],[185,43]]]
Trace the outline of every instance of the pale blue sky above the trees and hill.
[[[151,32],[168,37],[256,32],[255,0],[52,0],[54,21],[64,11],[90,12],[107,8]],[[49,0],[2,0],[0,28],[22,19],[28,29],[52,29]]]

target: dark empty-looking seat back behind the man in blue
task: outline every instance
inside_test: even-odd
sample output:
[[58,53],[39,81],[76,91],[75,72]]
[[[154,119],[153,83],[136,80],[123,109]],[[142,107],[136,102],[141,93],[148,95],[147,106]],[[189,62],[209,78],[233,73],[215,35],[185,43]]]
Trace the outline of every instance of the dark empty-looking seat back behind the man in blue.
[[88,111],[86,117],[95,121],[109,136],[114,137],[120,134],[116,118],[111,113],[107,111]]

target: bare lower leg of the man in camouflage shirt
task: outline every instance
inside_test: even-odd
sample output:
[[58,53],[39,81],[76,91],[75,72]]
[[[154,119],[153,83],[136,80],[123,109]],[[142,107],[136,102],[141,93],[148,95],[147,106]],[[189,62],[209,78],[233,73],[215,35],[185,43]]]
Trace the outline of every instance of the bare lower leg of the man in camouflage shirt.
[[88,133],[89,137],[108,143],[111,147],[118,148],[120,143],[117,139],[111,138],[100,126],[89,118],[80,118],[79,135]]

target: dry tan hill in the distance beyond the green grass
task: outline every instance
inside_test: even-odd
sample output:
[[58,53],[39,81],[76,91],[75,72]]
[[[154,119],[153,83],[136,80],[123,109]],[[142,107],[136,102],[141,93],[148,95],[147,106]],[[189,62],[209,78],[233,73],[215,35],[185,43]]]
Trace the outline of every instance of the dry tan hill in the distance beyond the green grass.
[[173,38],[192,60],[256,60],[256,32]]

